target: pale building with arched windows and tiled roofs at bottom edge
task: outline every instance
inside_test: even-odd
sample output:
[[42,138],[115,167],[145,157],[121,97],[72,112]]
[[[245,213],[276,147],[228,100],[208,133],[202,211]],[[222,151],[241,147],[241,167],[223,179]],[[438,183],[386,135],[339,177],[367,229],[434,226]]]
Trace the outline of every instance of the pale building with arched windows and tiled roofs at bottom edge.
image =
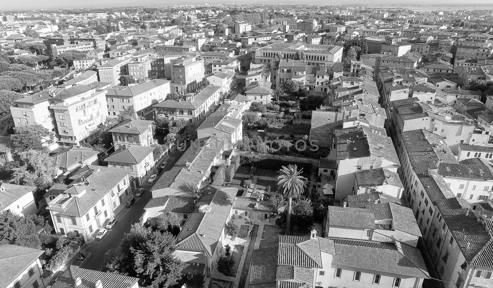
[[249,287],[302,283],[308,287],[419,288],[428,278],[417,248],[396,240],[321,238],[312,230],[310,237],[281,235],[261,240],[259,249],[253,250]]

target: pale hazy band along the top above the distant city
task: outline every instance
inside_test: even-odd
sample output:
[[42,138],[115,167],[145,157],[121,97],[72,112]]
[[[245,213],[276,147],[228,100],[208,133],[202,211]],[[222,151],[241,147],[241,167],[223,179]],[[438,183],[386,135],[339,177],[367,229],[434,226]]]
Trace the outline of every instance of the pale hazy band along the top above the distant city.
[[[197,0],[181,0],[181,1],[167,1],[163,3],[163,1],[159,0],[142,0],[137,4],[135,1],[131,0],[85,0],[84,4],[80,2],[67,2],[65,0],[52,0],[48,3],[40,2],[37,0],[18,0],[18,1],[10,1],[2,3],[1,10],[34,10],[34,9],[47,9],[47,8],[97,8],[97,7],[119,7],[119,6],[165,6],[165,5],[183,5],[183,4],[312,4],[312,5],[357,5],[357,6],[369,6],[369,5],[391,5],[391,6],[414,6],[414,5],[429,5],[429,6],[444,6],[444,7],[453,7],[460,6],[461,9],[472,9],[474,10],[476,5],[493,5],[491,0],[473,0],[473,2],[469,2],[465,4],[463,1],[458,0],[437,0],[433,3],[430,3],[427,0],[416,0],[412,3],[407,0],[378,0],[378,1],[366,1],[362,2],[361,0],[347,0],[344,3],[341,1],[322,1],[322,0],[312,0],[312,1],[299,1],[299,0],[283,0],[283,1],[268,1],[268,0],[244,0],[244,1],[225,1],[225,0],[212,0],[212,1],[197,1]],[[438,9],[438,7],[437,7]]]

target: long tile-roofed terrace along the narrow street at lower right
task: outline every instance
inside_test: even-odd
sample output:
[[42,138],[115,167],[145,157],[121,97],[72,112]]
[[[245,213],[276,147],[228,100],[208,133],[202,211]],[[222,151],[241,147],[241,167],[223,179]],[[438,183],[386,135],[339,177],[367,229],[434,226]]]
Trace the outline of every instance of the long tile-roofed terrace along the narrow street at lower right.
[[402,132],[399,172],[430,254],[434,278],[443,287],[489,285],[493,272],[490,218],[476,214],[470,204],[436,173],[441,161],[457,163],[445,140],[425,130]]

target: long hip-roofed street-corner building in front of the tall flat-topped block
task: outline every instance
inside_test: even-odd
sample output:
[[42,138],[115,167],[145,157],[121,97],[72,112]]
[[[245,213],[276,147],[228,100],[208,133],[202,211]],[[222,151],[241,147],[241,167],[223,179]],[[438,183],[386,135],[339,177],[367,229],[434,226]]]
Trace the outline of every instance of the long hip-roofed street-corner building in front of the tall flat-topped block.
[[221,86],[208,85],[199,93],[189,93],[182,100],[165,100],[153,105],[155,113],[166,112],[173,119],[182,118],[195,126],[205,118],[221,100]]

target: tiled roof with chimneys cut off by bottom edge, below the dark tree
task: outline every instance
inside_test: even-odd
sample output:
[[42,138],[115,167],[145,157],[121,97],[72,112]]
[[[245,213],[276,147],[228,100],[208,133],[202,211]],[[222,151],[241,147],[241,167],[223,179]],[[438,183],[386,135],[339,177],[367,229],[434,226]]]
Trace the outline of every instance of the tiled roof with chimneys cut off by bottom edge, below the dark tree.
[[[77,278],[82,280],[80,286],[75,285]],[[139,278],[70,265],[67,270],[58,276],[52,288],[94,288],[98,281],[101,281],[104,288],[129,288],[134,286],[139,281]]]

